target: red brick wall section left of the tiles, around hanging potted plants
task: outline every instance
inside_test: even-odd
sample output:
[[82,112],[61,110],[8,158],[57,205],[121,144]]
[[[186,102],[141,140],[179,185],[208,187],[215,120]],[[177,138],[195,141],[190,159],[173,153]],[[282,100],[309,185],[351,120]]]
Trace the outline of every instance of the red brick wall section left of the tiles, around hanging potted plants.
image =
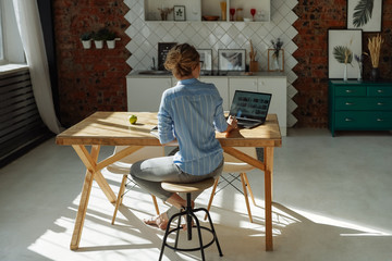
[[[125,46],[131,40],[123,0],[54,0],[60,119],[64,126],[95,111],[126,111],[125,76],[131,72]],[[83,33],[107,26],[120,41],[115,49],[83,49]]]

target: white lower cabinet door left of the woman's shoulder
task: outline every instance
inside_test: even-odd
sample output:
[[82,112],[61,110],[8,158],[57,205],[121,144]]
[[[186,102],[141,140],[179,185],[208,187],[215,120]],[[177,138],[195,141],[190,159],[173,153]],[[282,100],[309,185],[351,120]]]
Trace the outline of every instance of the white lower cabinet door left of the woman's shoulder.
[[126,78],[127,110],[157,112],[163,91],[170,87],[171,77]]

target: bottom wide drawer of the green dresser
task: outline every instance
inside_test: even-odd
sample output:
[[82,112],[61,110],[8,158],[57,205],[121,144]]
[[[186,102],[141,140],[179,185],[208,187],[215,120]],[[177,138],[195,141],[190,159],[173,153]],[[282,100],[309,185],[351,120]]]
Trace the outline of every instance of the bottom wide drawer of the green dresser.
[[339,111],[335,128],[340,129],[391,129],[392,112]]

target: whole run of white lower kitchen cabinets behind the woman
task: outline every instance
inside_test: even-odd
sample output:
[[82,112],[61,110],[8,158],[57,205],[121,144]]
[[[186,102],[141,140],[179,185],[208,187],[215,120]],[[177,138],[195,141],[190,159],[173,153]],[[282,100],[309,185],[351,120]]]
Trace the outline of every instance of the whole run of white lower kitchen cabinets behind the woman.
[[[200,80],[215,84],[223,99],[223,110],[229,111],[234,92],[238,90],[272,94],[269,113],[278,115],[281,134],[286,135],[287,127],[287,83],[281,73],[258,73],[253,76],[200,76]],[[140,75],[137,72],[126,77],[127,110],[158,111],[162,92],[176,85],[171,75]]]

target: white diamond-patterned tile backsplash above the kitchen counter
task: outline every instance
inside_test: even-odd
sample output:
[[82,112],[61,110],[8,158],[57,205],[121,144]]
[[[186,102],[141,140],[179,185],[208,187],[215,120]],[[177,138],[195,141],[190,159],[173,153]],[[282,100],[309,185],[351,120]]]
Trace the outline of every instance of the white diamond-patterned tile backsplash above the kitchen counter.
[[[271,39],[280,37],[284,41],[284,70],[287,75],[287,89],[291,90],[287,100],[290,103],[293,102],[291,98],[296,92],[292,83],[297,76],[292,69],[297,61],[292,53],[297,46],[292,39],[298,34],[293,27],[298,16],[292,10],[298,3],[297,0],[271,0],[271,22],[264,23],[145,22],[144,0],[124,0],[124,3],[130,7],[125,18],[131,26],[125,32],[132,39],[126,45],[132,53],[126,62],[132,69],[149,69],[152,65],[152,58],[158,60],[158,42],[162,41],[188,42],[196,48],[212,49],[213,69],[217,69],[219,49],[246,49],[248,52],[249,39],[252,39],[258,53],[259,67],[261,71],[267,71],[267,49],[271,48]],[[294,108],[293,104],[289,110],[292,108]],[[296,119],[293,115],[289,119],[289,126],[294,125]]]

